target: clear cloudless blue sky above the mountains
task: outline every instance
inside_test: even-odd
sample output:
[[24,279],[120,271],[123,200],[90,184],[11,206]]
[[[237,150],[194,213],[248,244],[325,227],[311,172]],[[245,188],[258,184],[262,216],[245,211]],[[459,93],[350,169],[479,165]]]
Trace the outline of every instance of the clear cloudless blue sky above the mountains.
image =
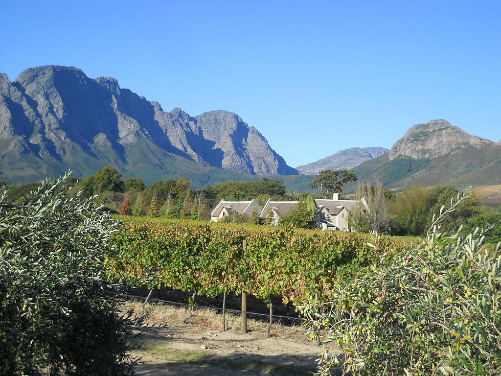
[[292,165],[447,119],[501,138],[501,2],[5,1],[0,71],[58,64],[256,126]]

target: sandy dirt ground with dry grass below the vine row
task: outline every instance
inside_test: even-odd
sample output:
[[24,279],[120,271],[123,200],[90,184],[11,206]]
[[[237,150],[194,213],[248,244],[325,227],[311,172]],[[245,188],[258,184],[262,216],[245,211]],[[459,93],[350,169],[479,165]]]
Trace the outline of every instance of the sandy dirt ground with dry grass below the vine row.
[[[142,312],[140,302],[129,308]],[[160,326],[140,338],[141,349],[133,351],[144,363],[142,376],[160,375],[307,375],[317,369],[321,347],[315,345],[301,325],[274,322],[271,337],[266,322],[249,319],[248,333],[240,333],[240,317],[211,310],[195,310],[187,323],[185,308],[149,304],[148,322]]]

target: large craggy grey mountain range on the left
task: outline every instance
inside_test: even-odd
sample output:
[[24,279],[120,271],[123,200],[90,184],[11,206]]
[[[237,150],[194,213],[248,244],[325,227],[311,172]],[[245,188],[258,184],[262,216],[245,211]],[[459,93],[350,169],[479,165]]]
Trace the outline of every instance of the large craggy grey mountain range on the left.
[[232,112],[166,112],[114,78],[74,67],[30,68],[12,82],[0,74],[0,179],[33,181],[68,168],[84,176],[107,164],[146,181],[298,174]]

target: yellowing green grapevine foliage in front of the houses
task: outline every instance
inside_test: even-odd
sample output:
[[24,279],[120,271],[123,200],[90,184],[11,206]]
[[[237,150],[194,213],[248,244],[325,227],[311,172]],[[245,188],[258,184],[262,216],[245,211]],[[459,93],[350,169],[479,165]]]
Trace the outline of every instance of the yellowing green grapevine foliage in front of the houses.
[[383,236],[374,250],[367,234],[118,218],[121,231],[106,260],[112,277],[206,296],[282,296],[284,303],[329,299],[336,283],[353,278],[375,252],[396,253],[420,241]]

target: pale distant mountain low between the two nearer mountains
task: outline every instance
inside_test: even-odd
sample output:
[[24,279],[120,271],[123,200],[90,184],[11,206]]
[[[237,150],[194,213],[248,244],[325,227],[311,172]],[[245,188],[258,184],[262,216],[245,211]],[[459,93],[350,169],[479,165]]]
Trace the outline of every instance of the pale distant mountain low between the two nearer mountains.
[[296,167],[296,169],[306,175],[315,175],[323,169],[353,168],[366,160],[376,158],[388,151],[388,149],[380,146],[352,147],[340,150],[316,162]]

